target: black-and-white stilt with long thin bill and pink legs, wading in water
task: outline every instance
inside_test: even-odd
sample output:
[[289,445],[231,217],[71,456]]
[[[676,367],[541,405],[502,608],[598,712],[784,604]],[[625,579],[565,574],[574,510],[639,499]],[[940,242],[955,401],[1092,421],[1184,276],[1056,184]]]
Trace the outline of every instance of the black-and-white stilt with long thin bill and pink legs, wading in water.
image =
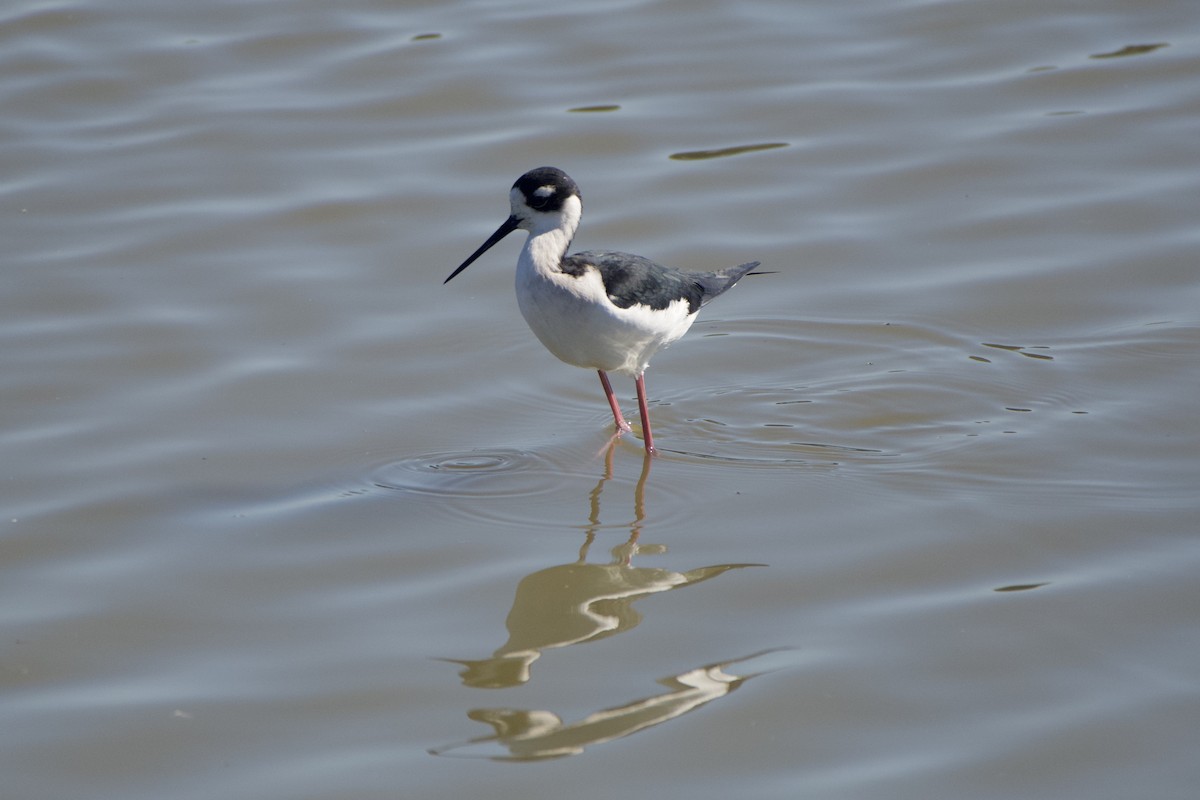
[[517,228],[529,231],[517,259],[517,305],[546,349],[566,363],[600,373],[618,431],[629,431],[610,372],[637,385],[646,452],[654,453],[646,405],[650,356],[683,336],[700,307],[758,266],[749,261],[715,272],[690,272],[613,251],[566,254],[580,227],[580,187],[562,169],[530,169],[509,191],[511,213],[482,246],[450,273],[470,266]]

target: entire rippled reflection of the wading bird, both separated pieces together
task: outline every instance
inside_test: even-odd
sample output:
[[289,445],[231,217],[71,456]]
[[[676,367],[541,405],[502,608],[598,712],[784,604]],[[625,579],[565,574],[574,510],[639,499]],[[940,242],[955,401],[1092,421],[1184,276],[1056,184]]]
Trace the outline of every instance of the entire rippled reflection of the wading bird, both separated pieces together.
[[[605,452],[605,469],[588,495],[588,525],[578,557],[570,563],[550,566],[526,576],[517,584],[516,597],[505,626],[509,638],[490,657],[448,660],[461,664],[463,684],[476,688],[506,688],[530,680],[533,662],[542,652],[630,631],[642,620],[634,601],[662,591],[690,587],[715,578],[730,570],[754,564],[719,564],[690,570],[635,566],[637,555],[664,554],[662,546],[641,545],[638,539],[646,521],[646,482],[650,473],[649,455],[634,488],[634,517],[629,537],[612,548],[607,564],[589,564],[588,552],[601,529],[600,498],[613,477],[616,437]],[[518,709],[476,709],[472,720],[491,724],[496,733],[463,745],[433,750],[443,754],[484,742],[500,747],[493,758],[529,760],[582,752],[589,744],[629,735],[677,717],[736,688],[750,675],[727,672],[731,664],[755,656],[697,667],[661,679],[666,692],[596,711],[578,722],[564,724],[551,711]],[[486,753],[485,753],[486,754]]]

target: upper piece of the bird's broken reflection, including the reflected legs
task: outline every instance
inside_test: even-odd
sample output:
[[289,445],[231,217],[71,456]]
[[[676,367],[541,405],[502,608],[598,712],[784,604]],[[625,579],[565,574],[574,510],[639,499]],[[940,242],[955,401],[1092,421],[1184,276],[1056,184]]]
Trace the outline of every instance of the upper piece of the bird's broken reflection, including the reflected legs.
[[690,587],[728,570],[749,564],[720,564],[683,572],[661,567],[634,566],[634,557],[662,554],[661,546],[638,543],[646,519],[646,480],[650,457],[642,462],[642,474],[634,489],[634,521],[629,539],[612,548],[608,564],[588,564],[588,551],[600,529],[600,494],[612,480],[612,446],[605,456],[605,473],[589,494],[588,528],[578,558],[568,564],[533,572],[517,584],[512,609],[505,620],[509,640],[491,657],[448,658],[463,666],[460,676],[467,686],[505,688],[524,684],[530,667],[544,650],[596,642],[632,630],[642,621],[634,601],[647,595]]

